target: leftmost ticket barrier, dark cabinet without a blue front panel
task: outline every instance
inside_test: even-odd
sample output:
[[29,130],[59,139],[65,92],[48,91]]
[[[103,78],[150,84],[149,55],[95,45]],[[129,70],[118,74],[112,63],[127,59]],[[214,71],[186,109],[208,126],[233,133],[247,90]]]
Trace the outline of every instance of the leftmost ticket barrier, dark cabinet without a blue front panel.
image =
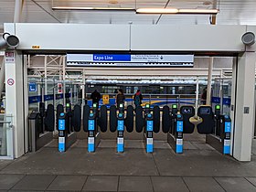
[[39,103],[39,112],[31,112],[28,116],[28,151],[36,152],[53,139],[54,131],[54,107],[48,104],[47,111],[45,103]]

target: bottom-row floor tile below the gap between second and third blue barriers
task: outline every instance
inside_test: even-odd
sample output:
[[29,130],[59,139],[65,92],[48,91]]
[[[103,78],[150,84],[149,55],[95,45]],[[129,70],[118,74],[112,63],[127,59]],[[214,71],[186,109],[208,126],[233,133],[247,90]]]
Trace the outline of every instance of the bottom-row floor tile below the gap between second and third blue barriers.
[[88,176],[82,190],[84,191],[117,191],[118,176]]

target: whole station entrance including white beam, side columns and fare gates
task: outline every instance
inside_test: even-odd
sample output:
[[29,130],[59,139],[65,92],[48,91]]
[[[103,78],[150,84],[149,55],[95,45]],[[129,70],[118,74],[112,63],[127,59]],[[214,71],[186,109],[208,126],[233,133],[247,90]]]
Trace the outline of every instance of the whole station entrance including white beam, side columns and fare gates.
[[[176,28],[81,25],[74,26],[76,29],[80,28],[76,30],[78,36],[72,40],[67,39],[63,44],[62,36],[73,29],[70,29],[69,25],[51,26],[51,34],[61,34],[61,36],[46,37],[41,33],[43,30],[40,30],[46,26],[47,24],[35,24],[33,27],[25,24],[5,25],[6,32],[23,39],[16,50],[6,50],[5,53],[6,113],[14,116],[13,127],[20,127],[13,130],[15,157],[27,153],[31,148],[28,144],[31,141],[28,134],[29,122],[40,127],[39,131],[35,131],[36,139],[46,134],[45,131],[58,133],[60,151],[65,149],[65,144],[69,145],[69,135],[73,135],[70,137],[71,144],[71,141],[80,135],[78,132],[85,132],[85,137],[89,134],[91,139],[88,139],[88,143],[96,146],[99,131],[102,132],[101,135],[107,131],[113,133],[116,144],[119,144],[118,142],[123,144],[125,140],[123,136],[130,132],[141,133],[145,146],[152,144],[154,135],[162,132],[168,140],[175,141],[176,145],[173,148],[180,150],[177,144],[183,144],[182,140],[179,140],[183,138],[183,134],[194,133],[193,130],[197,130],[197,133],[213,134],[207,140],[219,142],[222,152],[225,144],[229,144],[229,155],[240,161],[251,159],[254,113],[254,109],[251,109],[254,103],[254,82],[251,80],[255,79],[255,50],[253,46],[244,45],[240,37],[249,29],[254,31],[254,27],[216,26],[205,27],[202,31],[202,28],[197,26]],[[146,35],[142,33],[144,29],[149,33]],[[25,31],[29,33],[34,31],[33,34],[37,35],[27,37],[29,33]],[[82,33],[84,31],[86,34]],[[165,33],[162,33],[163,31]],[[184,31],[190,31],[193,39],[184,38]],[[174,36],[169,37],[169,32]],[[159,36],[155,37],[155,34]],[[205,34],[211,38],[206,37]],[[181,42],[176,41],[177,39]],[[60,54],[59,59],[49,55],[57,53]],[[31,62],[40,58],[42,54],[49,57],[41,57],[43,62]],[[95,57],[91,56],[92,54],[95,54]],[[123,56],[120,58],[120,55]],[[203,61],[206,56],[208,62]],[[223,64],[218,61],[218,56],[229,58],[232,77],[223,75],[224,70],[221,69],[219,75],[214,74],[216,71],[212,68],[213,60],[217,60],[219,66]],[[197,57],[202,59],[194,62]],[[118,62],[113,62],[112,59]],[[168,62],[168,59],[173,60]],[[16,65],[17,63],[19,65]],[[38,65],[33,66],[32,63]],[[197,63],[197,68],[194,63]],[[208,63],[206,71],[202,69],[204,63]],[[104,66],[105,64],[107,66]],[[193,67],[192,70],[189,67]],[[193,80],[187,81],[193,84],[192,92],[185,93],[188,94],[188,98],[183,95],[183,91],[187,91],[185,87],[189,87],[189,83],[186,86],[185,83],[186,78],[191,77],[191,73]],[[55,74],[59,77],[54,77]],[[95,78],[104,75],[106,78]],[[111,79],[107,79],[110,76]],[[141,78],[138,78],[140,76]],[[139,83],[129,86],[129,77],[134,78],[130,81],[139,81]],[[156,80],[153,79],[154,77]],[[117,80],[118,78],[120,79]],[[207,79],[208,82],[200,83],[203,79]],[[144,84],[147,80],[150,83]],[[112,81],[115,81],[115,84],[110,83]],[[228,82],[226,98],[224,82]],[[208,85],[207,99],[204,101],[207,106],[199,106],[201,104],[199,97],[204,91],[202,85],[205,87]],[[90,103],[89,95],[91,89],[99,86],[105,103],[99,105],[97,103],[95,106],[94,103]],[[193,92],[195,86],[196,92]],[[127,101],[118,105],[109,103],[108,106],[106,102],[110,102],[115,96],[114,92],[109,92],[113,89],[124,90]],[[133,105],[132,96],[136,90],[143,91],[142,106]],[[21,93],[20,97],[17,96],[17,92]],[[29,108],[32,111],[35,109],[31,117]],[[19,109],[24,110],[18,112]],[[197,122],[197,127],[193,127],[193,124],[196,124],[191,122],[193,117],[202,120]],[[37,121],[33,123],[35,118]],[[124,133],[125,131],[127,133]],[[171,144],[171,141],[168,143]],[[149,147],[151,147],[149,150],[154,149],[152,146]],[[218,148],[215,145],[214,147]]]

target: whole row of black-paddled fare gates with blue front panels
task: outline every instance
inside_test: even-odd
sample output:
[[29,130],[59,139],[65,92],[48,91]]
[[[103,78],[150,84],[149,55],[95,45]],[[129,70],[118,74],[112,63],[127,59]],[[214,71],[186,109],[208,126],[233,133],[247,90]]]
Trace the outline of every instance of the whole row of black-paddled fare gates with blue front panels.
[[[44,129],[53,132],[55,127],[55,112],[52,104],[48,105],[45,112],[44,104],[40,104],[40,110],[36,116],[44,124]],[[161,117],[162,111],[162,117]],[[125,130],[128,133],[133,132],[133,124],[135,119],[135,131],[144,133],[144,145],[146,153],[154,152],[154,133],[160,132],[160,119],[162,118],[162,132],[167,134],[168,144],[172,146],[176,154],[183,153],[183,134],[193,133],[195,124],[190,119],[195,116],[193,106],[182,106],[178,110],[177,105],[173,104],[170,109],[164,106],[162,110],[158,106],[153,108],[146,104],[145,107],[128,106],[124,110],[123,103],[120,106],[111,106],[109,110],[102,105],[100,110],[98,105],[94,103],[92,108],[89,105],[83,106],[83,117],[81,118],[80,105],[75,105],[73,109],[69,103],[64,112],[63,105],[57,106],[57,130],[59,131],[59,152],[65,152],[69,147],[69,137],[72,133],[80,132],[81,125],[83,131],[88,133],[88,152],[95,152],[97,145],[101,141],[101,133],[105,133],[108,127],[112,133],[117,133],[116,151],[124,152],[123,135]],[[33,115],[31,115],[32,117]],[[35,116],[35,115],[34,115]],[[133,118],[135,116],[135,118]],[[228,115],[220,114],[220,107],[215,107],[215,112],[210,106],[200,106],[197,110],[197,116],[201,118],[201,123],[197,124],[197,132],[207,135],[218,136],[219,148],[221,153],[229,155],[230,153],[230,130],[231,121]],[[81,121],[82,119],[82,121]],[[109,123],[109,124],[108,124]],[[207,137],[207,143],[211,144],[213,137]],[[216,145],[216,144],[215,144]],[[215,147],[213,144],[213,146]],[[215,147],[217,148],[217,147]]]

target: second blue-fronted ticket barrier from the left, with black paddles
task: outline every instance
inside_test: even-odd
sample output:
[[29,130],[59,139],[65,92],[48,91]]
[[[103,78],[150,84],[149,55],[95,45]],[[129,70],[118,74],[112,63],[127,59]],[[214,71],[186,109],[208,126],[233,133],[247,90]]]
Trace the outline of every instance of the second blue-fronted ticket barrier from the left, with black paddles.
[[89,105],[83,106],[83,130],[88,133],[88,152],[95,152],[96,147],[101,142],[101,132],[107,131],[107,107],[101,106],[100,113],[97,103],[92,104],[92,109]]

